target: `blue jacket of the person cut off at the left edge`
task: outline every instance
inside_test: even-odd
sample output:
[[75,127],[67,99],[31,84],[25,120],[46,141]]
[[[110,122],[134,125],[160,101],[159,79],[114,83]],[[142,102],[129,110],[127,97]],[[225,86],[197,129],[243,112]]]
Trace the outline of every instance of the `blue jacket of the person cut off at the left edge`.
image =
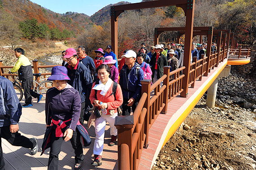
[[0,127],[18,124],[21,114],[22,106],[13,83],[0,76]]

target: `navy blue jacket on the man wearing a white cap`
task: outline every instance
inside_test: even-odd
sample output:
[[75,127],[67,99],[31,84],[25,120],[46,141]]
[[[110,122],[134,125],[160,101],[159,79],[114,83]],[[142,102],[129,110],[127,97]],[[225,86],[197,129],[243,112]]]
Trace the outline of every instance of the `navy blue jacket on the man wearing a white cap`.
[[140,65],[135,63],[131,70],[128,70],[128,66],[125,64],[121,69],[119,76],[119,84],[122,88],[123,97],[125,99],[133,98],[135,101],[140,100],[141,80],[144,79],[144,73]]

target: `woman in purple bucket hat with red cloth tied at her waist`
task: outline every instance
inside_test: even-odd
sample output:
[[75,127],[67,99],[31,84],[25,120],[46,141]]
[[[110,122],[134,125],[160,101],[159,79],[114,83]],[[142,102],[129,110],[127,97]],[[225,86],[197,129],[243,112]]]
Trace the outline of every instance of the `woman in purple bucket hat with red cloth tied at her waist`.
[[[53,81],[54,87],[46,92],[45,118],[46,127],[52,126],[50,134],[49,170],[58,169],[58,155],[63,140],[68,141],[75,133],[81,110],[79,92],[67,83],[67,69],[64,66],[55,66],[48,80]],[[58,106],[58,107],[56,107]],[[83,152],[83,148],[80,148]],[[82,162],[75,162],[75,170],[82,168]]]

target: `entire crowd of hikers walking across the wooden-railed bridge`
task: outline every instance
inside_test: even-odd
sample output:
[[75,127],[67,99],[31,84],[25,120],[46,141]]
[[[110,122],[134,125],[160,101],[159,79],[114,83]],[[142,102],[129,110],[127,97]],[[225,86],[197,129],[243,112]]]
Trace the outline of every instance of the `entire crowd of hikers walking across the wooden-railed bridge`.
[[[201,59],[206,53],[207,44],[192,43],[193,57]],[[122,59],[117,61],[110,45],[106,52],[102,48],[94,50],[94,60],[87,56],[84,46],[76,50],[68,48],[62,52],[62,66],[54,66],[48,80],[53,81],[45,98],[46,131],[42,145],[44,150],[50,148],[48,169],[57,170],[58,154],[64,141],[71,141],[75,151],[75,170],[82,169],[84,160],[83,145],[91,144],[84,128],[95,127],[93,146],[93,166],[102,165],[102,152],[106,122],[110,125],[111,140],[114,146],[117,139],[115,117],[128,116],[134,112],[141,98],[141,80],[150,79],[155,83],[163,76],[163,66],[171,66],[170,71],[183,66],[184,46],[181,44],[157,44],[147,50],[144,43],[136,53],[125,50]],[[211,46],[216,52],[215,44]],[[15,146],[31,148],[31,154],[38,151],[37,140],[28,139],[18,133],[18,121],[22,107],[31,107],[31,97],[39,102],[42,95],[31,91],[33,74],[31,63],[24,56],[22,48],[14,49],[17,63],[10,73],[18,71],[25,94],[25,104],[21,106],[14,92],[12,83],[0,78],[0,139],[7,139]],[[173,79],[175,77],[172,77]],[[91,112],[92,111],[92,112]],[[81,142],[80,136],[83,140]],[[82,144],[83,143],[83,144]],[[0,170],[4,169],[2,148],[0,148]]]

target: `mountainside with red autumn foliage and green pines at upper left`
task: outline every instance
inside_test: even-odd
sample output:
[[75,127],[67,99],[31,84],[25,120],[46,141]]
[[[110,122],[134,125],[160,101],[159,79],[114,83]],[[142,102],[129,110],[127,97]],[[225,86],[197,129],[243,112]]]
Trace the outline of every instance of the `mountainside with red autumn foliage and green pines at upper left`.
[[63,40],[94,25],[88,17],[84,13],[55,13],[30,0],[0,0],[0,36],[10,40],[8,44],[19,38]]

